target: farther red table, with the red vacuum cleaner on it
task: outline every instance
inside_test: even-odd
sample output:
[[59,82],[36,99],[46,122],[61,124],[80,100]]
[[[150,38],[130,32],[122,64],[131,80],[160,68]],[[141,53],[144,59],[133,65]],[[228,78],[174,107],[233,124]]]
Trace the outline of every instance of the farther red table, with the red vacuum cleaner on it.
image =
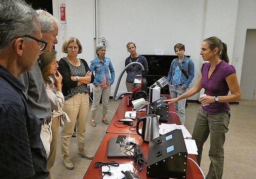
[[[136,134],[135,127],[132,128],[132,130],[135,130],[135,131],[131,131],[130,130],[131,126],[128,126],[128,125],[125,126],[124,124],[122,124],[122,122],[116,122],[120,119],[124,119],[125,111],[132,111],[132,107],[127,107],[126,100],[127,100],[128,96],[129,95],[124,95],[124,97],[122,98],[122,101],[120,102],[118,108],[116,109],[116,113],[114,114],[114,117],[113,117],[112,121],[110,122],[108,129],[106,130],[106,133]],[[166,97],[167,97],[167,99],[170,99],[170,95],[166,95]],[[176,123],[177,125],[181,125],[180,118],[176,114],[176,109],[173,104],[169,104],[168,111],[169,111],[169,115],[168,115],[167,123],[169,123],[169,124]],[[145,111],[137,112],[137,117],[145,116],[145,115],[146,115]],[[133,126],[136,126],[136,123],[137,123],[137,119],[135,119]],[[114,124],[116,124],[116,126],[118,126],[118,127],[116,127]]]

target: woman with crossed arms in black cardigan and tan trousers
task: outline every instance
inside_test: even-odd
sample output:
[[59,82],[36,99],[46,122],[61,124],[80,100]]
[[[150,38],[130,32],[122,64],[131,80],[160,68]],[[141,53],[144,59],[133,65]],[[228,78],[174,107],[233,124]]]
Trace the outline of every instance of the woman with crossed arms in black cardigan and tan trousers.
[[62,93],[64,95],[63,111],[70,118],[69,123],[64,123],[60,134],[61,152],[64,155],[63,164],[66,169],[74,169],[70,160],[69,145],[74,127],[76,125],[76,140],[78,143],[77,154],[79,157],[93,159],[93,156],[84,149],[86,120],[89,111],[89,97],[87,84],[94,81],[94,75],[86,61],[77,58],[82,53],[82,45],[75,37],[65,40],[62,52],[67,56],[60,59],[59,72],[63,77]]

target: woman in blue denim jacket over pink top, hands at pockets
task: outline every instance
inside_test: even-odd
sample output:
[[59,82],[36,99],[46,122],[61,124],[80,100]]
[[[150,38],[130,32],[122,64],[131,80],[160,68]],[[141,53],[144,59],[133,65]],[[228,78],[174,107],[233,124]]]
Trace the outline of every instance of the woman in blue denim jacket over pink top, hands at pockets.
[[106,47],[102,44],[96,46],[96,58],[91,61],[90,70],[95,72],[93,102],[91,108],[91,125],[96,127],[95,115],[102,95],[102,122],[109,124],[106,119],[108,112],[108,99],[111,85],[114,83],[115,71],[110,58],[106,57]]

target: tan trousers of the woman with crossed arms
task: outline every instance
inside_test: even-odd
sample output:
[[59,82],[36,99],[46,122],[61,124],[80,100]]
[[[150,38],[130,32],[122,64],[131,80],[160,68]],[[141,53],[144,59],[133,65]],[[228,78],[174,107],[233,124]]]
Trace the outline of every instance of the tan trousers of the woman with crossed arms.
[[63,111],[70,118],[69,123],[64,123],[60,133],[61,152],[69,155],[70,139],[76,125],[76,141],[79,149],[84,148],[86,121],[89,111],[89,97],[87,93],[78,93],[64,101]]

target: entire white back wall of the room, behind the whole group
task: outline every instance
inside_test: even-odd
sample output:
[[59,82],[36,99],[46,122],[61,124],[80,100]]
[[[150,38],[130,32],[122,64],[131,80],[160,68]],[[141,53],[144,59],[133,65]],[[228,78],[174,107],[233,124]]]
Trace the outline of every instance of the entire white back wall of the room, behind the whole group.
[[[94,0],[58,0],[60,2],[66,2],[67,37],[76,36],[82,42],[84,52],[79,57],[90,65],[96,44]],[[201,42],[210,36],[218,36],[228,45],[230,62],[236,67],[240,79],[242,67],[238,63],[242,64],[246,29],[252,24],[255,28],[255,6],[254,0],[96,0],[96,37],[106,38],[106,56],[114,65],[115,82],[128,56],[127,42],[135,42],[140,54],[154,54],[160,49],[166,55],[174,55],[173,46],[180,42],[186,46],[185,54],[195,63],[192,87],[198,80],[203,62],[199,55]],[[54,6],[54,16],[58,16],[59,9],[59,4]],[[234,64],[232,56],[241,60]],[[126,74],[118,94],[126,91],[125,77]],[[190,99],[198,97],[199,94]]]

